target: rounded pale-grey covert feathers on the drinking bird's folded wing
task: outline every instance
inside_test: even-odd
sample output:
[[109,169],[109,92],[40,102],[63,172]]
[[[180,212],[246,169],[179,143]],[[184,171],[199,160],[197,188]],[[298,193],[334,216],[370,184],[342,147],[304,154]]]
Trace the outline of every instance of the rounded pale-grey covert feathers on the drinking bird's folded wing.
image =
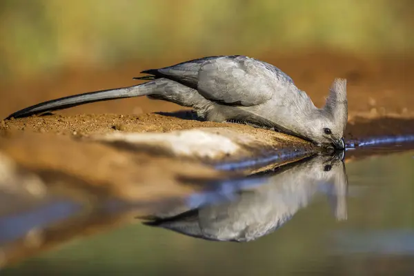
[[206,99],[237,106],[255,106],[273,96],[277,76],[256,59],[239,56],[202,64],[197,90]]

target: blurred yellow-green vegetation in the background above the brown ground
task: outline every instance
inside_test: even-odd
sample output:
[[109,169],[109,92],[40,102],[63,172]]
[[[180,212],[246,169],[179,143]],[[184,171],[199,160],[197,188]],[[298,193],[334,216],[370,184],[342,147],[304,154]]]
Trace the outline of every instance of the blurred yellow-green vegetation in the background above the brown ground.
[[2,0],[0,76],[307,48],[406,53],[408,0]]

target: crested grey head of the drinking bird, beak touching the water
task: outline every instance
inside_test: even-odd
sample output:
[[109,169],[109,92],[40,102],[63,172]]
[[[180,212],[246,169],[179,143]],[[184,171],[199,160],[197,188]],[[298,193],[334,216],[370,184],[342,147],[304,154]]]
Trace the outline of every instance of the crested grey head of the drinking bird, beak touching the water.
[[308,137],[319,146],[344,149],[344,131],[348,121],[346,79],[335,79],[325,106],[311,119]]

